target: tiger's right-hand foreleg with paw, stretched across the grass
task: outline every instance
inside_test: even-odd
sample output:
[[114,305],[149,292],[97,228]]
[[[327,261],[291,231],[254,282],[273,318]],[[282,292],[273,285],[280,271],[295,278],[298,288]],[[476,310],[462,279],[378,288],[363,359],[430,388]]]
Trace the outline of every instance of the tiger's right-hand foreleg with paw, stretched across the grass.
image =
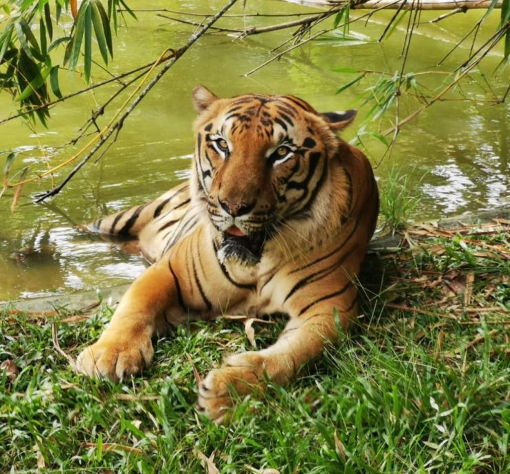
[[302,365],[319,357],[324,348],[337,341],[336,308],[340,324],[348,326],[357,313],[356,290],[346,300],[315,304],[313,311],[291,317],[278,341],[269,348],[242,352],[225,358],[223,367],[212,370],[199,384],[198,409],[221,423],[232,407],[232,396],[263,392],[269,379],[285,385]]

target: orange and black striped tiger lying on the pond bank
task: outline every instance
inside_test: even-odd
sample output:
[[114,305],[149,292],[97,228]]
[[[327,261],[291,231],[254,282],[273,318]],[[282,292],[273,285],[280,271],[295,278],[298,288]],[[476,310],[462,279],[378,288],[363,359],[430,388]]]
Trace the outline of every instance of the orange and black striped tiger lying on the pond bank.
[[239,397],[289,383],[357,317],[379,194],[368,159],[337,136],[355,110],[318,113],[294,95],[219,98],[202,85],[192,101],[190,179],[92,224],[137,238],[153,264],[76,368],[121,381],[142,372],[153,339],[179,324],[287,315],[275,343],[227,355],[199,381],[197,410],[221,423]]

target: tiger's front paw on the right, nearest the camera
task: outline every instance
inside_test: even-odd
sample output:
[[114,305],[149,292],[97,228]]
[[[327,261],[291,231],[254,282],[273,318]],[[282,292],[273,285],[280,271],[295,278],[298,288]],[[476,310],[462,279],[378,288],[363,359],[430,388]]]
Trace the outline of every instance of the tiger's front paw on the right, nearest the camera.
[[258,352],[234,354],[199,383],[197,410],[220,424],[228,420],[235,399],[265,390],[266,358]]

